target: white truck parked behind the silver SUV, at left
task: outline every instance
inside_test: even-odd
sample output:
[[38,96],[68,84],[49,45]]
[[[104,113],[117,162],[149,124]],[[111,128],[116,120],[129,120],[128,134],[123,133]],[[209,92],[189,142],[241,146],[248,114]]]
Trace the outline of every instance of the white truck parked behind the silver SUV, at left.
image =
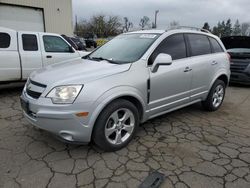
[[75,50],[58,34],[0,27],[0,84],[26,80],[37,69],[87,53]]

